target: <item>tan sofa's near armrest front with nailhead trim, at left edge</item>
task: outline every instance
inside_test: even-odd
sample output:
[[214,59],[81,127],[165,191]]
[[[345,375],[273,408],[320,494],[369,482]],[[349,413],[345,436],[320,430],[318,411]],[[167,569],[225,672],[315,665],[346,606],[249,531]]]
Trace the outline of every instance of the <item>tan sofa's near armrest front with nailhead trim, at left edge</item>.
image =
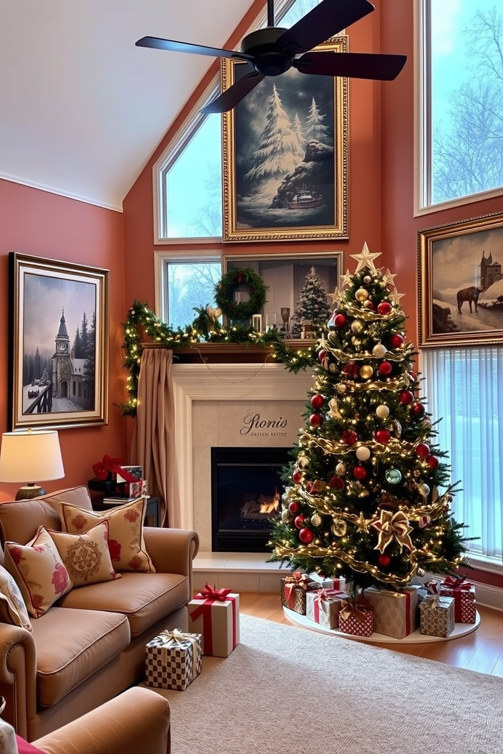
[[7,701],[2,717],[21,737],[27,736],[28,720],[36,714],[36,665],[32,634],[0,623],[0,696]]

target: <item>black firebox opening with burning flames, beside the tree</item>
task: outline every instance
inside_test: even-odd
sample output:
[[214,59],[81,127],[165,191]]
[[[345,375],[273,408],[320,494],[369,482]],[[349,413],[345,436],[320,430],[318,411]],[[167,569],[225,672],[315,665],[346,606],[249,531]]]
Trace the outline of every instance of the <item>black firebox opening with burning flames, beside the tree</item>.
[[281,510],[281,473],[289,448],[211,449],[213,552],[265,553],[271,520]]

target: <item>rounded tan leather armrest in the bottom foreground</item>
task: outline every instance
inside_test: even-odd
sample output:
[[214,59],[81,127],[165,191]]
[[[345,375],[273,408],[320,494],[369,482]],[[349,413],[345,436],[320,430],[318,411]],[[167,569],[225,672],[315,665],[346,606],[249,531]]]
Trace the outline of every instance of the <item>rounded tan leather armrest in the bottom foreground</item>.
[[170,754],[170,705],[150,688],[129,688],[33,746],[44,754]]

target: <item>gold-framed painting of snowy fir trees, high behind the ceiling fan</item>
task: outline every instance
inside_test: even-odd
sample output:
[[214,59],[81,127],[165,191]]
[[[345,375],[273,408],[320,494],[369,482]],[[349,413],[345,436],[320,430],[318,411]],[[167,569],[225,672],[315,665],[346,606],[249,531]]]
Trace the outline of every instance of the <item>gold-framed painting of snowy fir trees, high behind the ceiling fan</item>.
[[[317,50],[345,52],[347,37]],[[222,91],[250,72],[222,60]],[[348,238],[348,79],[290,69],[223,115],[223,240]]]

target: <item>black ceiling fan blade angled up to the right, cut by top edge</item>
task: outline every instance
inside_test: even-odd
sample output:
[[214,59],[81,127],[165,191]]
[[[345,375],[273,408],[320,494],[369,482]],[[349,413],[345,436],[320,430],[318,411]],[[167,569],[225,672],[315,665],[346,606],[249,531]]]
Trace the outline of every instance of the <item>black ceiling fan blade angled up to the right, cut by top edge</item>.
[[376,9],[368,0],[322,0],[279,38],[282,50],[299,54],[339,34]]

